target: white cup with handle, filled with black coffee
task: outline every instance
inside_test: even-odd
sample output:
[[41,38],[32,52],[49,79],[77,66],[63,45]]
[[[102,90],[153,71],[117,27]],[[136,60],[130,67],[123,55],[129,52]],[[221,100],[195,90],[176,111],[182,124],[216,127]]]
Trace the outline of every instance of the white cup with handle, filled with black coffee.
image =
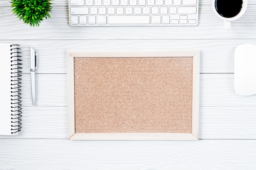
[[213,0],[212,8],[213,12],[224,20],[225,29],[229,30],[231,27],[230,22],[237,20],[245,13],[247,0]]

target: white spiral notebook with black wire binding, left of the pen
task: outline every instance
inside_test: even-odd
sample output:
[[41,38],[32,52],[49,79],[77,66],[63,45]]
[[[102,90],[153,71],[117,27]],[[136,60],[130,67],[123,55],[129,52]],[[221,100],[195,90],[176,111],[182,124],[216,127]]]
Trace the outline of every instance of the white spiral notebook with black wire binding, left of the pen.
[[21,56],[19,45],[0,43],[0,135],[21,129]]

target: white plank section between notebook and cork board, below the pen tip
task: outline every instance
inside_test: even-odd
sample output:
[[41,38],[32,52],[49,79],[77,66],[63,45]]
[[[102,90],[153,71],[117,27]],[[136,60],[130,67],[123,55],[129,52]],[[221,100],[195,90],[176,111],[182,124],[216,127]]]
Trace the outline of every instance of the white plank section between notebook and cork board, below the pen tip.
[[[67,138],[67,107],[22,107],[21,119],[22,131],[17,136],[20,139]],[[13,137],[0,135],[0,138]]]

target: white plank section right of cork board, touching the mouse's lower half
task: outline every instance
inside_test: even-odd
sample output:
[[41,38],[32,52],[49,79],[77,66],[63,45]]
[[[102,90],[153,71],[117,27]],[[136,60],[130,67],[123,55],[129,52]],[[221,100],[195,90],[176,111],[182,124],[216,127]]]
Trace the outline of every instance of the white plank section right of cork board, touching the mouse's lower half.
[[256,106],[256,95],[238,96],[234,74],[200,74],[200,106]]

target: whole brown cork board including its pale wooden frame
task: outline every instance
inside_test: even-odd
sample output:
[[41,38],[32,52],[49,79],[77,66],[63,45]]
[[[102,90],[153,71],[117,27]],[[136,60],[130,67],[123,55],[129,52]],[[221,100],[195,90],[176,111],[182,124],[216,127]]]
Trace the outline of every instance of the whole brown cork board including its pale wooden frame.
[[198,51],[67,52],[69,139],[198,139]]

